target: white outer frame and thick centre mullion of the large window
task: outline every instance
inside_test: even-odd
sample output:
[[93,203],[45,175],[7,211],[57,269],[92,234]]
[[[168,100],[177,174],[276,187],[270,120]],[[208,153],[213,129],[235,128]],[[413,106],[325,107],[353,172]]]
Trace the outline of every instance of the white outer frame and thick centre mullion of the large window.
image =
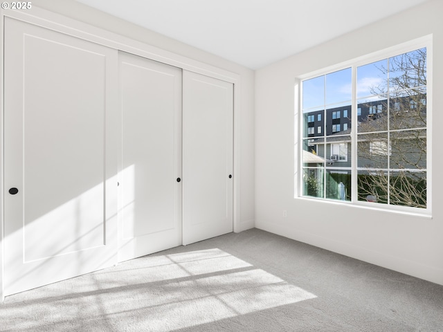
[[[411,208],[407,206],[399,206],[399,205],[389,205],[389,204],[382,204],[382,203],[370,203],[365,201],[359,201],[358,200],[358,194],[357,194],[357,180],[356,176],[352,176],[352,194],[351,194],[351,201],[341,201],[336,202],[331,199],[324,199],[324,198],[317,198],[317,197],[311,197],[311,196],[303,196],[303,164],[302,164],[302,158],[300,157],[302,155],[302,144],[299,144],[299,152],[298,152],[298,163],[296,163],[296,187],[295,187],[295,198],[296,199],[314,199],[319,202],[325,202],[325,203],[338,203],[338,204],[352,204],[355,206],[361,206],[361,208],[370,208],[375,210],[382,210],[387,212],[394,212],[394,213],[404,213],[408,215],[417,215],[417,216],[425,216],[425,217],[432,217],[432,205],[433,205],[433,197],[432,197],[432,178],[433,178],[433,172],[432,172],[432,145],[433,142],[431,140],[432,138],[432,100],[433,100],[433,42],[432,42],[432,35],[427,35],[424,37],[420,37],[417,39],[414,39],[410,42],[406,42],[403,44],[399,44],[397,46],[392,46],[387,49],[378,50],[374,53],[371,53],[369,55],[363,55],[361,57],[358,57],[356,59],[352,59],[347,62],[343,62],[341,64],[337,64],[336,66],[330,66],[327,68],[323,68],[321,70],[307,73],[305,75],[300,75],[297,77],[300,84],[300,89],[298,89],[298,104],[296,105],[296,113],[298,110],[300,110],[300,113],[302,113],[302,81],[309,80],[314,77],[318,77],[321,75],[327,75],[329,73],[333,73],[335,71],[340,71],[345,68],[352,68],[352,86],[353,86],[353,93],[352,93],[352,109],[351,114],[352,118],[354,118],[357,122],[357,117],[361,116],[361,108],[357,109],[357,98],[356,98],[356,68],[358,66],[363,66],[365,64],[370,64],[372,62],[377,62],[381,59],[387,59],[389,57],[395,57],[397,55],[401,55],[404,53],[408,53],[412,50],[417,50],[419,48],[425,48],[426,47],[426,66],[427,66],[427,78],[426,78],[426,145],[427,145],[427,154],[426,154],[426,208]],[[375,107],[375,110],[377,112],[377,107]],[[299,118],[298,120],[298,132],[302,133],[302,118]],[[303,137],[302,135],[296,136],[300,142],[302,142]],[[351,139],[352,139],[352,167],[351,167],[351,173],[357,174],[357,167],[356,167],[356,157],[357,157],[357,133],[356,130],[352,131],[351,133]],[[326,170],[326,169],[325,169]]]

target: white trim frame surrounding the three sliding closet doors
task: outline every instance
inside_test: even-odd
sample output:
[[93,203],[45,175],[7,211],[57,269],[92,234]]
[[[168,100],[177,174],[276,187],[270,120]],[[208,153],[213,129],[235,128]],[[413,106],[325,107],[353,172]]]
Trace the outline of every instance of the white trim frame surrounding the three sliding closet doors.
[[[105,29],[85,24],[84,22],[59,15],[49,10],[44,10],[33,4],[31,10],[0,10],[0,51],[3,55],[4,52],[4,21],[5,17],[25,21],[29,24],[35,24],[42,26],[43,28],[55,30],[66,35],[71,35],[80,39],[84,39],[88,42],[114,48],[116,50],[122,50],[127,53],[146,57],[154,61],[163,62],[164,64],[170,64],[182,68],[183,70],[192,71],[202,75],[217,78],[230,82],[234,86],[234,138],[233,138],[233,230],[234,232],[240,232],[242,227],[240,225],[240,118],[241,118],[241,80],[240,75],[230,71],[226,71],[222,68],[199,62],[195,59],[172,53],[168,50],[138,42],[135,39],[118,35],[117,33],[111,33]],[[3,59],[3,56],[1,57]],[[0,119],[3,119],[3,62],[0,66]],[[3,121],[0,125],[0,164],[3,170]],[[3,274],[4,274],[4,261],[3,261],[3,182],[4,173],[0,174],[0,301],[4,299],[3,293]]]

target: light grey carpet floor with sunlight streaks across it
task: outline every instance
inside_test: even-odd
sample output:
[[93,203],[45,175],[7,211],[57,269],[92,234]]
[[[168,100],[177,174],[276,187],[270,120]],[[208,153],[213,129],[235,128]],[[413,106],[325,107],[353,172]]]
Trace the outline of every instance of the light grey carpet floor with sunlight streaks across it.
[[443,286],[253,229],[6,297],[0,331],[443,331]]

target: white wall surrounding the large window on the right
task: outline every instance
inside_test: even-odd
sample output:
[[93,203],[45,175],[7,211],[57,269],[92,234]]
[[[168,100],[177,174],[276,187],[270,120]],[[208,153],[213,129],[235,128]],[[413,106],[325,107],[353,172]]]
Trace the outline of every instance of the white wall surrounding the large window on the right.
[[[428,1],[255,73],[257,228],[443,284],[442,12],[443,1]],[[294,33],[308,32],[309,27]],[[294,199],[296,77],[428,34],[433,34],[434,59],[433,218]]]

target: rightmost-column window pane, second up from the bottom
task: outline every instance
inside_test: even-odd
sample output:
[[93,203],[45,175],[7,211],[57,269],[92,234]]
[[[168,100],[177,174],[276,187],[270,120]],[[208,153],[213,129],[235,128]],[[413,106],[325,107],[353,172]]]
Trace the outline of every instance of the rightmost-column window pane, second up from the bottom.
[[426,129],[390,133],[390,169],[426,169]]

